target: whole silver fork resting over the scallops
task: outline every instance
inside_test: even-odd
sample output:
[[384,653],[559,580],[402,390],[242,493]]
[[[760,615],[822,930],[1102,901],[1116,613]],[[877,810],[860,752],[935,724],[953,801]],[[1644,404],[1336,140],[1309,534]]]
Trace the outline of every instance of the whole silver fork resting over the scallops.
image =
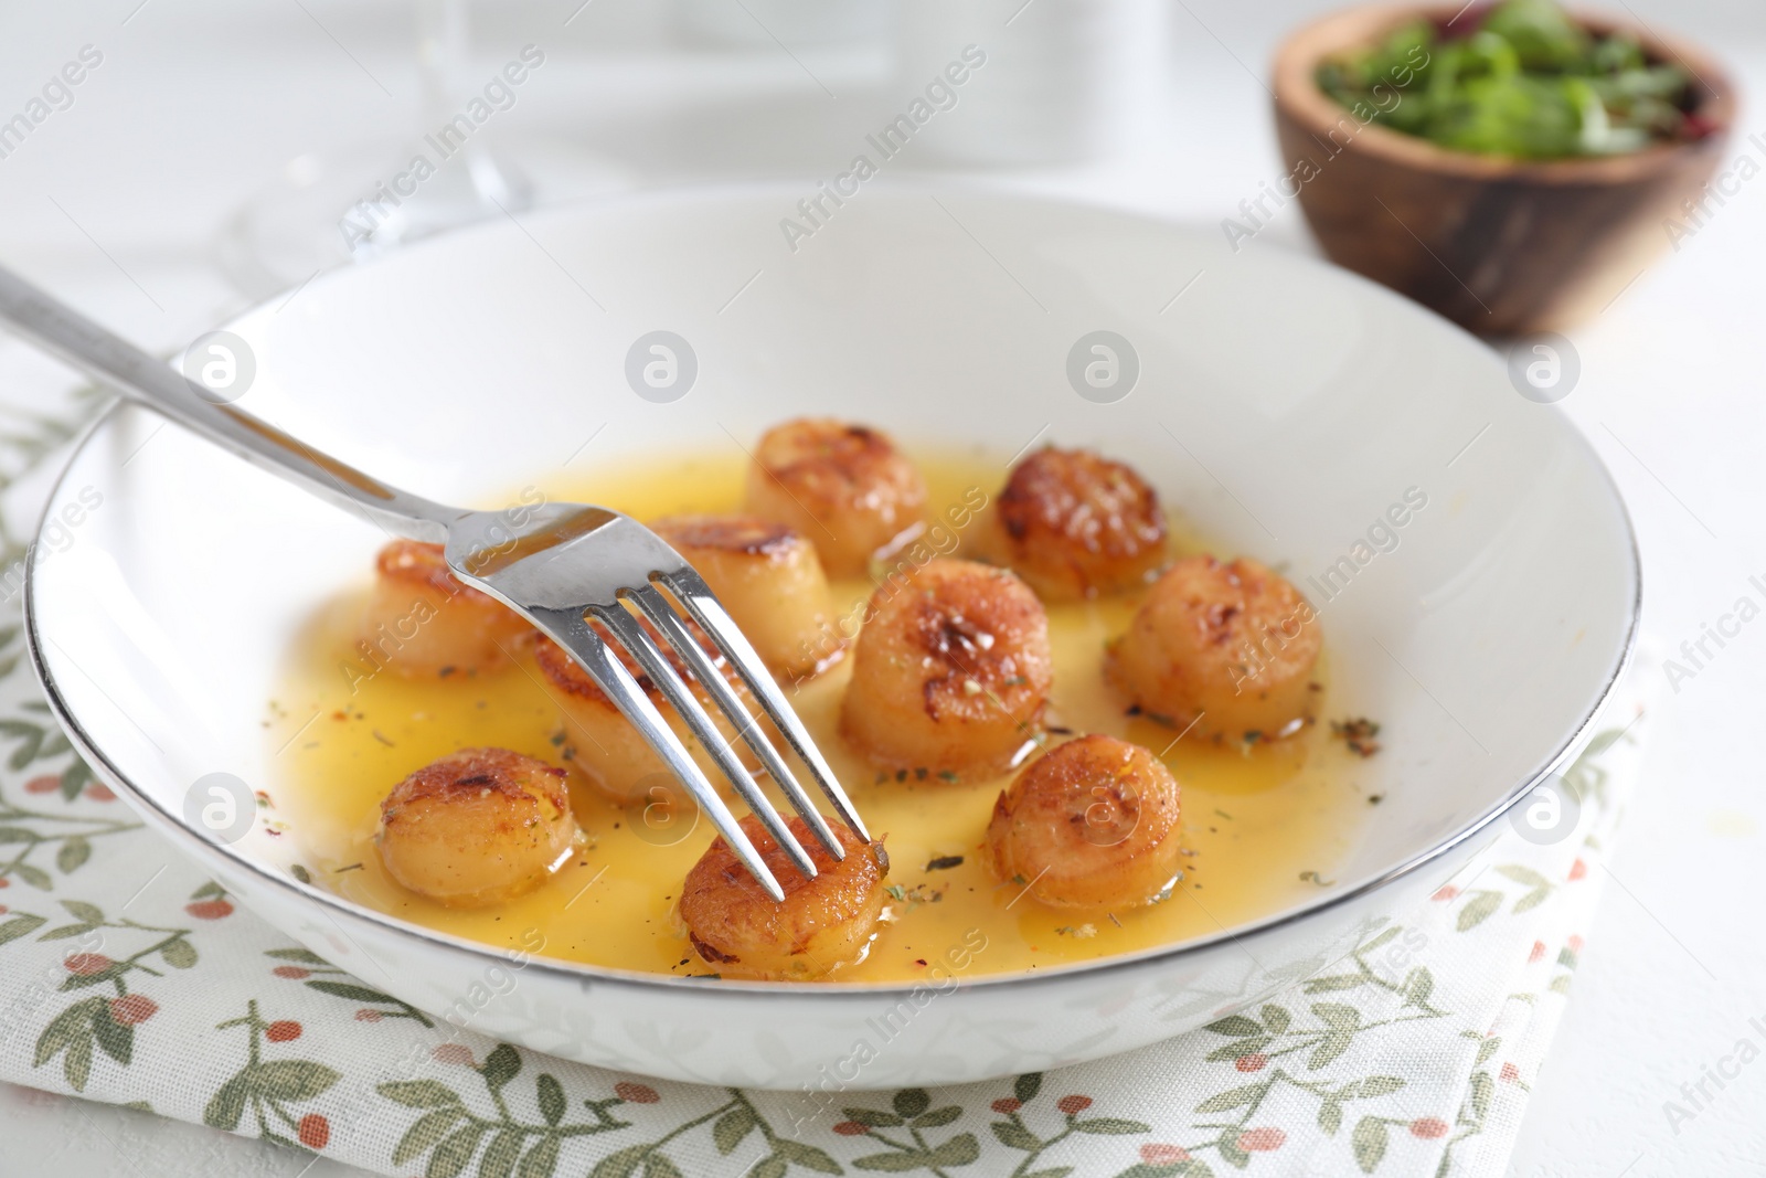
[[[669,597],[673,597],[673,602],[678,602],[687,616],[699,623],[742,682],[747,683],[759,701],[761,712],[809,766],[841,821],[865,842],[871,841],[864,821],[835,781],[834,770],[828,768],[804,722],[786,703],[784,692],[779,691],[749,639],[742,636],[705,579],[680,553],[636,519],[604,507],[546,503],[530,512],[521,525],[510,525],[503,512],[445,507],[389,487],[378,479],[291,438],[275,426],[219,403],[214,394],[177,369],[155,360],[4,268],[0,268],[0,320],[46,350],[87,369],[124,396],[203,434],[256,466],[366,516],[390,535],[443,544],[454,576],[521,613],[540,632],[570,652],[655,749],[669,772],[682,781],[699,811],[712,819],[712,825],[724,835],[724,841],[759,880],[761,887],[774,899],[782,901],[784,892],[779,881],[766,869],[742,827],[736,825],[717,789],[694,763],[643,687],[638,685],[638,680],[588,623],[588,618],[597,618],[615,641],[632,655],[699,744],[705,745],[742,800],[761,819],[766,832],[779,842],[791,864],[804,876],[814,878],[816,864],[809,851],[793,837],[791,828],[742,765],[742,758],[634,615],[636,609],[652,622],[742,740],[754,751],[791,807],[814,830],[816,839],[835,860],[844,858],[839,837],[774,749],[765,728],[749,715],[740,696],[696,641],[687,622],[671,604]],[[668,590],[668,595],[662,590]]]

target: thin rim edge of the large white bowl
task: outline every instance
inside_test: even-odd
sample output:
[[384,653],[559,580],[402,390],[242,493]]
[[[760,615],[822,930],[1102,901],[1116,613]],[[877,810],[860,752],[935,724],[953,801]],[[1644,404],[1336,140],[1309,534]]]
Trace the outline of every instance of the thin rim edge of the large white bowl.
[[[948,191],[950,187],[952,185],[948,184],[936,185],[931,182],[895,180],[876,185],[874,191],[878,194],[887,193],[890,196],[899,198],[902,194]],[[966,194],[982,196],[987,200],[1005,201],[1012,205],[1042,207],[1060,212],[1077,210],[1106,217],[1130,219],[1141,223],[1143,226],[1151,226],[1162,231],[1173,231],[1173,230],[1196,231],[1194,226],[1185,226],[1181,223],[1132,210],[1123,210],[1111,205],[1075,201],[1063,196],[1037,196],[1037,194],[1014,193],[1010,189],[1001,189],[998,185],[984,182],[966,184],[957,187],[964,189]],[[701,201],[715,203],[731,198],[754,198],[759,194],[782,196],[786,193],[789,194],[800,193],[800,184],[791,184],[782,180],[765,180],[765,182],[724,182],[724,184],[705,184],[705,185],[669,185],[660,189],[639,189],[634,193],[622,193],[616,196],[560,205],[556,208],[544,210],[539,215],[572,217],[590,210],[593,212],[623,210],[623,208],[657,207],[668,203],[701,203]],[[438,233],[433,238],[426,238],[424,242],[413,244],[410,249],[433,249],[436,244],[449,242],[454,237],[470,235],[473,231],[509,231],[509,230],[505,230],[500,221],[480,223],[475,226],[463,226],[461,230],[454,230],[449,233]],[[403,253],[408,251],[399,251],[399,254]],[[1406,307],[1411,313],[1432,318],[1438,321],[1439,327],[1466,337],[1468,343],[1478,344],[1480,348],[1485,346],[1482,341],[1476,339],[1476,336],[1471,336],[1469,332],[1452,323],[1450,320],[1441,318],[1439,314],[1429,311],[1422,304],[1411,302],[1409,298],[1404,298],[1402,295],[1392,291],[1386,286],[1381,286],[1379,283],[1374,283],[1372,279],[1362,277],[1360,274],[1337,267],[1323,258],[1310,258],[1307,254],[1289,254],[1287,251],[1282,253],[1284,256],[1289,256],[1293,261],[1298,261],[1302,265],[1314,265],[1323,270],[1332,270],[1340,281],[1349,281],[1353,284],[1363,286],[1377,298],[1392,300],[1393,304]],[[341,267],[341,268],[346,272],[357,272],[362,267]],[[254,314],[256,311],[274,304],[275,298],[277,297],[272,295],[270,298],[265,298],[260,304],[245,307],[235,316],[233,321]],[[37,523],[39,537],[55,503],[62,502],[64,498],[64,491],[67,487],[69,477],[72,475],[76,461],[81,456],[85,456],[87,449],[90,447],[92,440],[99,434],[99,431],[106,429],[113,420],[117,420],[125,408],[141,413],[152,412],[143,406],[134,406],[125,399],[118,399],[113,401],[102,413],[99,413],[92,422],[85,426],[85,429],[76,436],[76,440],[69,447],[67,464],[62,466],[62,470],[55,477],[55,484],[48,495],[42,516],[39,517]],[[1605,680],[1600,685],[1600,691],[1595,694],[1593,701],[1588,705],[1582,717],[1570,726],[1570,731],[1563,736],[1558,747],[1552,752],[1549,752],[1533,772],[1522,774],[1517,779],[1517,782],[1508,789],[1508,793],[1498,798],[1492,805],[1489,805],[1483,814],[1478,814],[1476,818],[1464,823],[1457,830],[1448,832],[1439,841],[1411,855],[1409,858],[1400,860],[1399,864],[1388,867],[1386,871],[1381,871],[1340,892],[1321,895],[1316,901],[1298,904],[1286,911],[1272,913],[1259,920],[1252,920],[1234,927],[1220,927],[1217,933],[1190,938],[1185,941],[1176,941],[1171,945],[1155,945],[1151,948],[1143,948],[1128,954],[1060,964],[1060,966],[1051,966],[1047,970],[1021,970],[1012,973],[962,977],[959,978],[957,989],[992,991],[992,989],[1012,987],[1014,991],[1030,991],[1030,989],[1042,989],[1047,985],[1072,984],[1070,980],[1079,975],[1095,978],[1104,973],[1125,973],[1132,970],[1162,968],[1187,955],[1201,955],[1226,943],[1238,943],[1254,936],[1263,936],[1266,933],[1284,929],[1287,925],[1300,924],[1303,920],[1310,920],[1319,913],[1347,906],[1355,901],[1369,897],[1386,888],[1388,885],[1395,883],[1397,880],[1416,874],[1423,871],[1429,864],[1445,858],[1457,848],[1476,839],[1482,832],[1485,832],[1485,828],[1489,828],[1508,811],[1519,805],[1540,781],[1556,772],[1568,759],[1570,752],[1582,745],[1584,736],[1591,735],[1595,722],[1602,719],[1602,715],[1607,710],[1607,705],[1612,701],[1619,680],[1625,676],[1626,669],[1634,662],[1634,657],[1637,653],[1641,620],[1642,620],[1642,558],[1637,546],[1637,528],[1632,521],[1630,509],[1625,503],[1625,496],[1621,495],[1619,486],[1612,477],[1612,472],[1607,470],[1607,464],[1600,459],[1600,454],[1595,450],[1588,436],[1581,429],[1577,429],[1572,422],[1568,422],[1563,410],[1559,410],[1558,406],[1540,406],[1540,408],[1561,419],[1563,427],[1566,429],[1568,434],[1566,440],[1584,452],[1584,456],[1591,461],[1598,479],[1611,495],[1611,502],[1618,509],[1618,523],[1623,526],[1625,532],[1625,540],[1626,540],[1625,549],[1630,560],[1632,578],[1628,586],[1630,600],[1626,604],[1628,616],[1626,616],[1625,638],[1619,645],[1618,657],[1614,659],[1611,669],[1607,671]],[[544,957],[535,952],[512,950],[509,947],[496,947],[486,941],[473,941],[450,933],[438,933],[434,929],[426,929],[420,924],[403,920],[399,917],[378,911],[366,904],[358,904],[355,901],[344,899],[343,895],[337,895],[316,885],[302,883],[300,880],[297,880],[288,872],[277,871],[263,862],[258,862],[256,858],[235,853],[228,846],[205,839],[198,835],[194,830],[191,830],[187,825],[184,825],[182,816],[173,814],[159,802],[155,802],[145,789],[129,781],[129,777],[102,752],[102,749],[99,749],[97,742],[74,715],[67,698],[57,687],[55,675],[51,673],[44,653],[46,639],[39,629],[39,611],[37,611],[37,592],[39,592],[37,578],[39,578],[39,567],[42,563],[42,553],[46,551],[48,549],[41,544],[34,546],[32,560],[26,565],[23,616],[25,616],[25,648],[30,657],[30,668],[32,673],[37,676],[39,687],[44,692],[44,699],[49,705],[49,712],[55,715],[57,722],[60,722],[62,729],[67,733],[71,744],[79,752],[79,756],[85,758],[85,761],[99,774],[99,777],[102,777],[104,782],[109,784],[111,788],[118,789],[138,812],[141,812],[145,818],[150,819],[150,825],[166,830],[171,841],[180,850],[184,850],[185,855],[191,855],[205,864],[219,864],[226,871],[249,872],[256,876],[256,880],[261,885],[272,890],[279,890],[284,895],[284,899],[290,899],[297,904],[316,902],[321,910],[334,910],[339,915],[364,920],[367,924],[376,925],[381,933],[392,934],[401,941],[413,943],[417,948],[434,948],[434,947],[457,948],[475,957],[486,959],[489,963],[503,963],[516,957],[525,957],[525,963],[521,966],[525,971],[537,970],[540,973],[555,977],[556,980],[576,985],[588,985],[588,984],[620,985],[620,987],[632,987],[639,991],[657,991],[657,993],[669,993],[669,991],[692,993],[692,994],[715,993],[719,996],[729,994],[729,996],[759,998],[774,1001],[777,1000],[779,994],[793,994],[800,1001],[807,1000],[807,1001],[818,1001],[821,1005],[834,1005],[846,1000],[872,1000],[878,996],[906,998],[927,985],[927,982],[924,980],[758,982],[758,980],[740,980],[740,978],[717,978],[715,989],[706,991],[705,978],[673,977],[662,973],[648,973],[641,970],[620,970],[611,966],[565,961],[558,957]],[[330,913],[325,915],[327,918],[330,918]]]

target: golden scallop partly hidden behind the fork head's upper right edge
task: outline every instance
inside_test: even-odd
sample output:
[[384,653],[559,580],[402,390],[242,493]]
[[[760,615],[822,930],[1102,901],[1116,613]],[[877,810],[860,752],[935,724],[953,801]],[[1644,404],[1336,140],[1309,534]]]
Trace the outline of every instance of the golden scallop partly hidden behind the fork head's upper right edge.
[[802,680],[846,648],[816,546],[759,516],[671,516],[650,525],[712,586],[766,669]]

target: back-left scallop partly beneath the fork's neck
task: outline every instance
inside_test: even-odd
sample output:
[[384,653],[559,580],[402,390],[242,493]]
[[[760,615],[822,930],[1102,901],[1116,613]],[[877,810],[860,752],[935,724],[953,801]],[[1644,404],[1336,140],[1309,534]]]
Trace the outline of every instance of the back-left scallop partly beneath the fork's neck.
[[440,544],[394,540],[374,558],[357,650],[374,668],[434,678],[500,666],[532,632],[519,613],[456,579]]

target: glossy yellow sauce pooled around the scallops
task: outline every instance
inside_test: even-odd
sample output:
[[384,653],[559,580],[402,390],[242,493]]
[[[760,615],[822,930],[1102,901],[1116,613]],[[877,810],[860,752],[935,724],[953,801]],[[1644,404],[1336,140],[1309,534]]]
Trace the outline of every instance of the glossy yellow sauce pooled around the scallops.
[[[1001,463],[977,457],[922,468],[934,512],[964,502],[977,487],[991,496],[1005,479]],[[646,463],[546,491],[556,500],[604,503],[653,519],[682,510],[735,510],[742,473],[743,456],[731,452],[728,459]],[[1174,519],[1173,532],[1178,555],[1204,551],[1185,535],[1181,521]],[[839,602],[857,604],[869,595],[869,585],[837,585],[835,593]],[[680,881],[712,841],[710,823],[698,821],[691,834],[664,846],[653,834],[634,834],[634,821],[643,823],[638,811],[622,811],[574,782],[581,851],[537,892],[496,908],[452,910],[392,881],[373,841],[387,791],[429,761],[472,745],[502,745],[560,763],[558,710],[528,657],[480,676],[411,682],[383,671],[360,678],[367,668],[353,643],[362,600],[362,592],[343,595],[314,618],[267,721],[279,770],[274,816],[288,837],[298,839],[313,881],[369,908],[494,947],[623,970],[712,973],[675,915]],[[1143,744],[1181,784],[1183,880],[1169,899],[1150,908],[1051,910],[1021,895],[1019,885],[994,880],[980,848],[1007,779],[879,779],[837,733],[849,664],[798,689],[800,715],[871,832],[887,839],[890,883],[899,888],[871,954],[841,968],[837,982],[911,982],[927,977],[929,963],[938,966],[940,959],[966,961],[962,970],[973,977],[1169,945],[1302,902],[1321,887],[1319,878],[1335,878],[1333,865],[1369,812],[1369,798],[1358,786],[1360,759],[1330,738],[1324,721],[1335,714],[1328,691],[1317,698],[1317,724],[1252,749],[1180,738],[1171,728],[1125,715],[1123,701],[1102,680],[1102,653],[1136,604],[1116,599],[1049,608],[1049,721],[1074,733],[1111,733]],[[959,865],[927,869],[932,860],[959,857]],[[961,952],[977,945],[984,948]]]

